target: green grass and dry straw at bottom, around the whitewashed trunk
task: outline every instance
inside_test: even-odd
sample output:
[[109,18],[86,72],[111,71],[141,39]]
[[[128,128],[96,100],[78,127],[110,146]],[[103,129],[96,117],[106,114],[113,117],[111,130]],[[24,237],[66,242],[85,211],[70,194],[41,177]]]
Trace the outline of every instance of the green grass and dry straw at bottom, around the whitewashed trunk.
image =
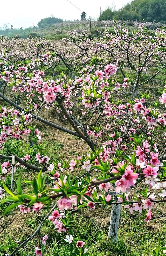
[[[105,210],[98,208],[93,213],[89,213],[87,210],[79,210],[78,213],[72,214],[71,224],[74,233],[78,233],[82,240],[90,238],[87,248],[91,256],[147,256],[151,254],[152,249],[157,246],[163,246],[166,225],[160,225],[160,229],[157,228],[159,221],[155,225],[154,223],[140,225],[140,218],[138,216],[135,218],[131,214],[128,215],[127,209],[122,209],[121,211],[119,238],[117,244],[112,244],[107,239],[109,214],[110,208]],[[104,221],[100,220],[99,215],[102,216],[102,220]],[[24,241],[25,237],[30,236],[40,223],[44,217],[44,211],[39,212],[37,215],[31,213],[28,216],[13,211],[11,219],[13,217],[14,222],[10,223],[5,232],[2,231],[1,233],[4,233],[1,241],[2,245],[6,244],[7,233],[13,239],[18,239],[20,242]],[[17,236],[20,233],[21,235]],[[54,231],[50,221],[46,221],[41,228],[41,236],[45,234],[49,234],[45,256],[70,255],[68,246],[64,246],[61,241],[64,236]],[[19,255],[33,255],[31,251],[33,246],[37,244],[38,238],[36,237]],[[0,255],[3,255],[3,253],[0,253]]]

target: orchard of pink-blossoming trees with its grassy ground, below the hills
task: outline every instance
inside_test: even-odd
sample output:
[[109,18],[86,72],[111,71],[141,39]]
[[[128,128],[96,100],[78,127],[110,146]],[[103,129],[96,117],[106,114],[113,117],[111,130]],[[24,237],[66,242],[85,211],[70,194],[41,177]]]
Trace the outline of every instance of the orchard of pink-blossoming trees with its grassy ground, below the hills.
[[162,256],[163,24],[55,27],[0,37],[0,256]]

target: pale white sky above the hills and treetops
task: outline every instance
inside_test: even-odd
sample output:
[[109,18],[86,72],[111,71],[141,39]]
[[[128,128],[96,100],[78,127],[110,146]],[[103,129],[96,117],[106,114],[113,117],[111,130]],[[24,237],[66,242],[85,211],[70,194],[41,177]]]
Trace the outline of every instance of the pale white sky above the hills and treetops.
[[[7,1],[7,2],[6,2]],[[100,6],[104,11],[112,5],[112,0],[70,0],[81,11],[67,0],[0,0],[0,27],[9,23],[13,28],[28,28],[42,19],[54,15],[63,20],[80,19],[81,11],[86,17],[90,15],[97,19],[100,15]],[[131,0],[113,0],[118,10]]]

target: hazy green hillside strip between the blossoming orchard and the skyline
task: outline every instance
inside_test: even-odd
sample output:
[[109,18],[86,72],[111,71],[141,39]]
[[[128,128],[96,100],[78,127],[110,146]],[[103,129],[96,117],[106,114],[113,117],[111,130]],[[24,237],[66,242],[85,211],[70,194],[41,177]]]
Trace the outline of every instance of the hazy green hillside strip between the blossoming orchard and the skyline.
[[[130,31],[134,27],[138,27],[140,22],[130,21],[130,20],[118,20],[117,24],[127,26]],[[164,26],[163,23],[159,22],[144,22],[144,25],[148,30],[155,30],[156,28],[161,28]],[[99,37],[101,33],[99,31],[104,31],[105,26],[111,30],[115,26],[113,20],[102,20],[102,21],[92,21],[91,22],[91,37]],[[90,21],[73,21],[73,22],[63,22],[56,23],[46,28],[27,28],[27,29],[9,29],[7,31],[0,30],[0,36],[7,37],[18,37],[18,38],[32,38],[32,37],[43,37],[45,39],[59,40],[62,38],[67,38],[70,31],[76,30],[77,32],[85,31],[87,34],[90,33]]]

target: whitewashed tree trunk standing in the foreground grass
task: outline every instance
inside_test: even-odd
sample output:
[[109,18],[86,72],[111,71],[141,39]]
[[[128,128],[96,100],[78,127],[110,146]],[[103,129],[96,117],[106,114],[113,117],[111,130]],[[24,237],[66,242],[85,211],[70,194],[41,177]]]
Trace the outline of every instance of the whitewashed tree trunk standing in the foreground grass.
[[[114,195],[114,198],[117,201],[117,196]],[[116,242],[118,239],[118,225],[120,218],[121,204],[113,204],[111,208],[111,217],[110,217],[110,226],[108,231],[108,238],[112,242]]]

